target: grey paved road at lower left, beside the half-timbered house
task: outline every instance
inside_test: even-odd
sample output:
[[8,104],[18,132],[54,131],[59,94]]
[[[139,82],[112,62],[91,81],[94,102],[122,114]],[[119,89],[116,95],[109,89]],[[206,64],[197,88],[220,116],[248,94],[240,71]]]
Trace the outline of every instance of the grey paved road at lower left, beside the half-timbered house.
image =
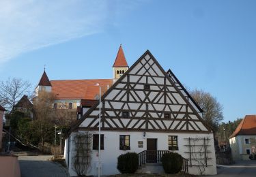
[[50,155],[19,156],[21,177],[68,177],[59,163],[48,161]]

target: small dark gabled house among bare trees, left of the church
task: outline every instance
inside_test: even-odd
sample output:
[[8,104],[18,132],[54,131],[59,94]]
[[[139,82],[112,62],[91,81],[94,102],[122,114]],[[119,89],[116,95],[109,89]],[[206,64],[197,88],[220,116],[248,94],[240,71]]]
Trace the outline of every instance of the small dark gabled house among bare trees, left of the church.
[[16,103],[14,110],[23,112],[26,116],[29,116],[29,118],[33,118],[33,104],[29,101],[27,95],[23,95],[18,103]]

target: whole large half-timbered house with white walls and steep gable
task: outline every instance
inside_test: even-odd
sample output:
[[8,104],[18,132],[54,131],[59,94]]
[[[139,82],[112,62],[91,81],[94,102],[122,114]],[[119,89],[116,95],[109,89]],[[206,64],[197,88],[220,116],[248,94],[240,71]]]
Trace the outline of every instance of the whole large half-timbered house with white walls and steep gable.
[[[137,152],[140,163],[154,167],[167,150],[188,159],[190,174],[216,174],[214,137],[201,117],[201,108],[150,51],[124,72],[101,100],[102,175],[119,174],[117,157],[126,152]],[[87,175],[98,175],[99,109],[97,101],[72,126],[66,139],[64,155],[70,176],[77,175],[80,163],[89,165]],[[89,133],[89,138],[77,139],[81,133]],[[87,147],[91,152],[76,154]]]

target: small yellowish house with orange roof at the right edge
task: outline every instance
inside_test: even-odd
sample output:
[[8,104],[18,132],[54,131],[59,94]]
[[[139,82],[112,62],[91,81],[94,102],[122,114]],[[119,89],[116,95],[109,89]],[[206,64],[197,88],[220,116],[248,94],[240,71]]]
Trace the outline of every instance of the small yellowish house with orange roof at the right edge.
[[233,160],[249,160],[256,152],[256,115],[246,115],[229,138]]

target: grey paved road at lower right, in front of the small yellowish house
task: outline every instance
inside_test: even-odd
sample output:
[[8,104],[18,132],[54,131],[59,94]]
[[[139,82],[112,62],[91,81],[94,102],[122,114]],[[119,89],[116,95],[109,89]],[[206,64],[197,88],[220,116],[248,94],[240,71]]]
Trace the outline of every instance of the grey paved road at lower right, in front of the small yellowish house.
[[218,177],[256,176],[256,161],[236,161],[233,165],[218,165]]

